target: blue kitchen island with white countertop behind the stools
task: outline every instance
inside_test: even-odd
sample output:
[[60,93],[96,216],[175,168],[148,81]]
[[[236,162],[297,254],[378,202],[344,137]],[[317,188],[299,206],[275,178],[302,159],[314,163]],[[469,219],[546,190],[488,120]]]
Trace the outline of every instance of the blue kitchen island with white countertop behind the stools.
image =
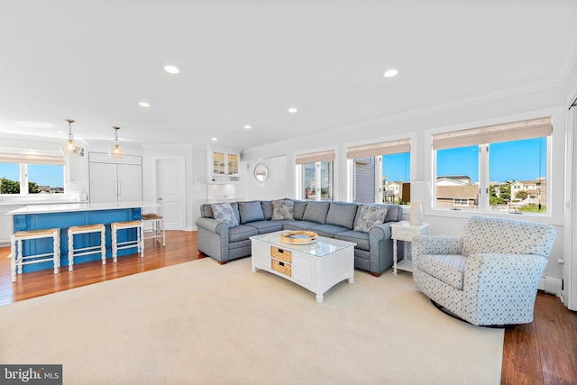
[[[106,259],[112,258],[110,224],[140,220],[143,207],[159,206],[147,202],[114,202],[114,203],[69,203],[60,205],[34,205],[17,208],[6,213],[12,215],[13,234],[19,231],[41,230],[53,227],[60,228],[60,266],[68,266],[68,228],[78,225],[105,225]],[[88,244],[98,243],[99,234],[82,234],[74,239],[75,248],[86,247]],[[118,241],[124,242],[136,239],[136,230],[127,230],[119,234]],[[43,250],[50,251],[52,243],[48,239],[25,241],[24,254],[30,251],[37,253]],[[125,249],[118,252],[119,256],[135,253],[134,249]],[[100,254],[91,254],[76,257],[74,264],[96,261]],[[23,272],[52,269],[50,261],[23,266]]]

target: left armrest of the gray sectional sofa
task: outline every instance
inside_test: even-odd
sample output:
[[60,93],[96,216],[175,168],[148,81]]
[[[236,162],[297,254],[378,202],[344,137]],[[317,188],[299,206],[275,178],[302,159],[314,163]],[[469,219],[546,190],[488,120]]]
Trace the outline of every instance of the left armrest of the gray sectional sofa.
[[197,246],[200,252],[221,264],[228,261],[228,226],[213,218],[197,219]]

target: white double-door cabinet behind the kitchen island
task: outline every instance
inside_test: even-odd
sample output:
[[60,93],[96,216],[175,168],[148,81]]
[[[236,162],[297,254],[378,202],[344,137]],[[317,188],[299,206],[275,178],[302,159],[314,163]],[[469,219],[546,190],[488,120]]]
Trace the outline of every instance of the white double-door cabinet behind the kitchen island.
[[91,152],[89,165],[91,203],[142,200],[142,157],[113,162],[108,154]]

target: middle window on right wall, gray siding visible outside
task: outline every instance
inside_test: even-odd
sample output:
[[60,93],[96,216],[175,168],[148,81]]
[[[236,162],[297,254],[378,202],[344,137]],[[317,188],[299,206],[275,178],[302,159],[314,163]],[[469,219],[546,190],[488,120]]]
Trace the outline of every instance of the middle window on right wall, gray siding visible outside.
[[410,139],[349,147],[353,161],[353,202],[408,204]]

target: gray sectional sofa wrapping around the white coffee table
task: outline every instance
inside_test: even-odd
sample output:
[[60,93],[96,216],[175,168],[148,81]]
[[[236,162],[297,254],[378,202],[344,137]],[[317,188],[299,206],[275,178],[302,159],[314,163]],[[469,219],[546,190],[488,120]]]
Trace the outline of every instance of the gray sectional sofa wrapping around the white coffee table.
[[[284,199],[290,200],[290,199]],[[234,216],[238,225],[229,227],[214,219],[210,204],[200,207],[197,219],[197,245],[200,252],[221,264],[251,255],[249,237],[281,230],[307,230],[320,236],[357,243],[354,249],[354,266],[374,276],[389,269],[393,264],[393,243],[390,239],[390,224],[401,219],[402,207],[386,206],[384,223],[375,225],[367,232],[355,231],[359,221],[360,204],[329,201],[292,200],[294,219],[272,220],[272,201],[234,202]],[[275,202],[276,204],[276,202]],[[276,215],[276,214],[275,214]],[[403,244],[398,244],[399,260],[403,255]]]

